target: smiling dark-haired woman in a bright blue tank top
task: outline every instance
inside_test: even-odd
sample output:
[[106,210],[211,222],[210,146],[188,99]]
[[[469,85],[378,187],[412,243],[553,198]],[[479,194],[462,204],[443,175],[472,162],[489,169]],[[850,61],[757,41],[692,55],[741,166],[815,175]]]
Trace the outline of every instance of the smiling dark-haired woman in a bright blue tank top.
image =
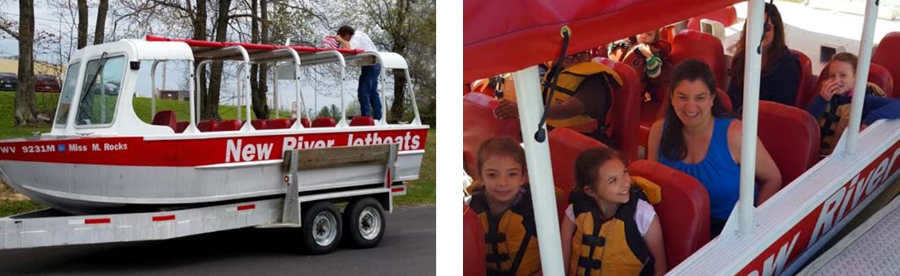
[[[647,158],[678,169],[707,188],[710,236],[716,237],[738,200],[741,182],[741,120],[716,99],[709,65],[686,60],[675,67],[666,116],[650,128]],[[756,141],[757,204],[781,187],[769,151]]]

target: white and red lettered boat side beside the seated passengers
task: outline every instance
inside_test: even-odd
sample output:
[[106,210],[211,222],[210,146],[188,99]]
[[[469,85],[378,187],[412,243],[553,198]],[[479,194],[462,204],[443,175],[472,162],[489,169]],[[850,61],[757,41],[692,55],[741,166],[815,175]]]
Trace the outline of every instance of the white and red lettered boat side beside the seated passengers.
[[896,170],[900,162],[895,163],[898,147],[900,120],[870,125],[860,136],[858,154],[822,160],[799,177],[802,181],[782,188],[757,208],[752,233],[723,231],[670,273],[743,276],[796,271],[878,196],[885,183],[900,176]]

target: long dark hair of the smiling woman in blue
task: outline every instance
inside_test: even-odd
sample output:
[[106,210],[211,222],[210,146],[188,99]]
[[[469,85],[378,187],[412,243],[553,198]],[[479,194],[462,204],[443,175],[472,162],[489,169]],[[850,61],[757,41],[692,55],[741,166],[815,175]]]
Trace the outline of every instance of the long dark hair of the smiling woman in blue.
[[[732,117],[725,108],[723,108],[722,100],[716,95],[716,78],[713,77],[713,71],[709,69],[709,65],[697,59],[689,59],[682,61],[675,66],[672,73],[671,84],[669,85],[669,99],[675,99],[675,87],[681,81],[702,81],[707,85],[710,96],[713,98],[712,115],[714,117]],[[675,114],[675,108],[670,104],[666,108],[665,121],[663,121],[662,137],[660,138],[660,152],[662,156],[670,160],[684,160],[688,157],[688,145],[684,141],[684,134],[681,130],[684,124]]]

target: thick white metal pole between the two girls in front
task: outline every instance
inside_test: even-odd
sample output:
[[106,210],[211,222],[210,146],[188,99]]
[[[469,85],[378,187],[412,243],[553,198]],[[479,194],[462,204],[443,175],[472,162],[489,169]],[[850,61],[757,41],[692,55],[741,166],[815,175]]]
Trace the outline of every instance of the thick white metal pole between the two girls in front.
[[[554,175],[550,164],[550,147],[544,141],[535,140],[537,123],[544,113],[541,83],[537,66],[514,73],[518,96],[518,120],[522,125],[522,141],[528,179],[531,185],[531,202],[534,205],[537,226],[537,244],[540,247],[541,267],[544,275],[563,275],[563,248],[560,245],[559,220],[556,216]],[[546,127],[542,127],[546,130]]]

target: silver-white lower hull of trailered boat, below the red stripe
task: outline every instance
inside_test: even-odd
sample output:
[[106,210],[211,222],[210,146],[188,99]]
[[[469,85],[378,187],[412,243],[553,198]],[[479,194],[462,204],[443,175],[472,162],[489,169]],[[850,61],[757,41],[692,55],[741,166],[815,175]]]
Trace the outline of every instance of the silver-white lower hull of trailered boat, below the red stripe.
[[[404,152],[406,153],[406,152]],[[398,181],[419,178],[424,151],[400,154]],[[136,167],[0,161],[10,184],[43,203],[85,208],[121,204],[205,203],[284,193],[281,164],[243,168]],[[301,172],[301,190],[383,183],[383,165]],[[26,177],[30,176],[30,177]]]

